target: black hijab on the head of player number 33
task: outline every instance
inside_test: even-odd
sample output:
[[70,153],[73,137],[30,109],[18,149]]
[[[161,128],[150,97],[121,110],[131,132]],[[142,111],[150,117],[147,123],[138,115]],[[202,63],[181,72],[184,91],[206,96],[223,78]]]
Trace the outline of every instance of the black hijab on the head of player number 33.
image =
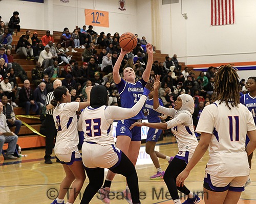
[[90,106],[98,108],[108,105],[108,91],[104,86],[95,86],[91,90]]

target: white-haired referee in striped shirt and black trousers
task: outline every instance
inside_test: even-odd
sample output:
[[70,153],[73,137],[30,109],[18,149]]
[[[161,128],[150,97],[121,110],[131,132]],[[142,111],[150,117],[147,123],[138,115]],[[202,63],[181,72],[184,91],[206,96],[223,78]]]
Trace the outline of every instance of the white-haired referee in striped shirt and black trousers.
[[[53,82],[53,88],[56,89],[57,87],[61,86],[62,83],[60,80],[55,80]],[[46,155],[45,155],[45,163],[52,164],[51,161],[51,154],[52,149],[54,147],[54,138],[57,135],[57,130],[55,127],[55,122],[53,120],[53,110],[54,107],[51,105],[51,101],[54,98],[53,91],[48,93],[46,96],[46,119],[44,122],[45,127],[47,128],[46,134]],[[56,158],[57,162],[58,158]]]

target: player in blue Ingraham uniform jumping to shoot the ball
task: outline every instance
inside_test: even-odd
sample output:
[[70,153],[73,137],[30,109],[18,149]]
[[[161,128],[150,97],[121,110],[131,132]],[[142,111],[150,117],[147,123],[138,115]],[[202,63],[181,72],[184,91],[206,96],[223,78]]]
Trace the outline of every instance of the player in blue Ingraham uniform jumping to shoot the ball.
[[[121,53],[117,59],[117,62],[113,69],[113,79],[118,88],[118,92],[121,98],[121,105],[123,108],[131,108],[133,107],[137,101],[140,99],[140,96],[143,94],[143,87],[146,85],[146,82],[150,79],[150,72],[153,64],[153,47],[151,44],[146,45],[146,50],[148,54],[148,61],[146,65],[146,69],[142,74],[142,79],[138,82],[135,82],[135,72],[132,67],[127,67],[123,70],[123,79],[119,75],[119,69],[121,66],[121,62],[124,56],[130,51],[126,51],[121,49]],[[139,111],[139,113],[126,120],[119,120],[116,126],[116,146],[120,148],[124,154],[132,161],[132,163],[136,164],[137,158],[139,155],[140,144],[141,144],[141,127],[137,127],[134,130],[129,130],[129,127],[136,121],[141,121],[143,119],[143,110]],[[108,172],[106,176],[105,183],[103,187],[100,189],[101,193],[107,193],[105,188],[111,187],[111,182],[114,179],[115,174],[111,171]],[[128,202],[132,203],[130,199],[130,190],[126,185],[126,190],[123,191],[128,197]],[[107,197],[107,196],[105,196]],[[109,199],[103,200],[105,203],[110,203]]]

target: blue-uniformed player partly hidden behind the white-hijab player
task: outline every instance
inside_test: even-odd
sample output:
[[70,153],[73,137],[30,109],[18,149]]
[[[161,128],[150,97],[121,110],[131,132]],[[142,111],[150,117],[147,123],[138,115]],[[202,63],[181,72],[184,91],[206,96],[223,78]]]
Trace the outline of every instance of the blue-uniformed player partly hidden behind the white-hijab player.
[[[164,120],[167,118],[167,115],[159,115],[158,112],[156,112],[153,108],[153,96],[154,96],[154,89],[152,88],[150,94],[148,94],[148,98],[146,99],[145,104],[145,110],[144,115],[147,115],[148,122],[161,122],[160,119]],[[158,98],[160,106],[163,106],[162,100]],[[159,151],[155,151],[155,146],[158,141],[159,136],[161,135],[162,130],[155,129],[150,127],[150,130],[147,132],[147,138],[146,138],[146,153],[150,155],[150,158],[152,159],[156,169],[157,173],[153,176],[150,176],[150,179],[152,180],[158,180],[163,179],[164,171],[160,167],[158,158],[165,159],[169,163],[173,160],[174,157],[168,157],[166,155],[163,155]]]

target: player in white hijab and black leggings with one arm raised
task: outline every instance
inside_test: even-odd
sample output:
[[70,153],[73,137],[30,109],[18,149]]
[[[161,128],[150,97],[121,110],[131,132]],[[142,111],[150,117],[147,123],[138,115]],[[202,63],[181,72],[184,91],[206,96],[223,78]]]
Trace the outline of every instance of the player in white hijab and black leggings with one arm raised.
[[165,170],[163,176],[164,182],[175,204],[181,204],[178,190],[188,196],[188,199],[183,203],[198,203],[200,198],[197,195],[194,197],[193,192],[188,190],[185,186],[176,186],[177,176],[185,169],[198,145],[191,115],[194,112],[194,99],[188,94],[181,94],[175,101],[173,109],[162,107],[159,105],[158,100],[159,85],[160,78],[157,76],[154,84],[154,109],[159,113],[172,117],[173,119],[166,123],[135,122],[130,129],[134,126],[142,125],[161,130],[172,128],[172,132],[178,143],[179,152]]

